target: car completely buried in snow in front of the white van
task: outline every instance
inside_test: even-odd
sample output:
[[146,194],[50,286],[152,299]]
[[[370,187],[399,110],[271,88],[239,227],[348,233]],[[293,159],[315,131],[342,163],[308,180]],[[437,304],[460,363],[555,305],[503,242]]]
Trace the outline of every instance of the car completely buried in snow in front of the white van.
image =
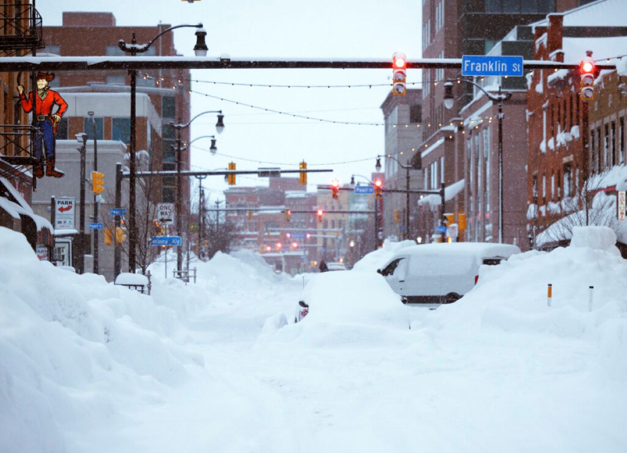
[[316,273],[302,291],[295,322],[408,328],[408,312],[385,278],[367,271]]

